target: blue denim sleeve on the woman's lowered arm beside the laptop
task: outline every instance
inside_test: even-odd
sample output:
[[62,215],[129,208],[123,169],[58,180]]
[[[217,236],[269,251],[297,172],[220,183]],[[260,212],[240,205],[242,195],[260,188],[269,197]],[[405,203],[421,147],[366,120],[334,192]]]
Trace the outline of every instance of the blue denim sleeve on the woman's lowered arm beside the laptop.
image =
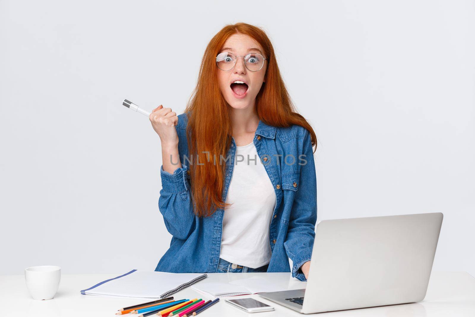
[[306,281],[300,267],[312,258],[317,221],[315,162],[308,131],[304,137],[303,154],[305,154],[306,163],[300,167],[300,186],[295,192],[284,246],[288,257],[293,262],[292,276]]

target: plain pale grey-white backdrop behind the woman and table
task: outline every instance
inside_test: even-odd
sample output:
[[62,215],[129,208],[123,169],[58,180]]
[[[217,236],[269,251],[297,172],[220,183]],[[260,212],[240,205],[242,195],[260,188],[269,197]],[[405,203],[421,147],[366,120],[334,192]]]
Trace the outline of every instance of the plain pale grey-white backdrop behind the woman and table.
[[475,274],[474,7],[0,0],[0,274],[155,269],[160,141],[122,100],[182,113],[239,21],[316,130],[318,220],[441,211],[434,269]]

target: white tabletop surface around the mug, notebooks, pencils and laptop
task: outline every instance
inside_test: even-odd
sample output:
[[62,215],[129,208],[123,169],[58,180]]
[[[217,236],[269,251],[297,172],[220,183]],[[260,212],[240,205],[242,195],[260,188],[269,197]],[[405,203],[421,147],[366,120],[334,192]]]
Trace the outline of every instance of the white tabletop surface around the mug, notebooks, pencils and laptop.
[[[28,294],[23,275],[0,276],[0,307],[1,316],[34,316],[34,317],[117,317],[117,309],[150,301],[151,299],[110,298],[92,295],[81,295],[80,290],[89,288],[96,283],[116,277],[121,274],[63,274],[55,298],[50,300],[35,300]],[[208,278],[202,282],[227,282],[251,276],[265,277],[278,281],[288,289],[305,288],[305,282],[300,282],[290,276],[290,273],[208,273]],[[200,283],[200,282],[199,282]],[[211,299],[201,293],[185,288],[173,295],[180,298]],[[243,295],[233,298],[252,297],[276,308],[275,311],[249,314],[224,302],[224,298],[210,307],[200,317],[237,316],[237,317],[276,317],[276,316],[319,316],[319,317],[349,317],[349,316],[475,316],[475,278],[466,272],[432,272],[426,298],[422,302],[383,307],[361,308],[329,313],[303,315],[292,309],[280,306],[258,295]],[[228,297],[229,298],[229,297]],[[134,315],[124,315],[134,316]],[[137,316],[137,315],[135,315]]]

